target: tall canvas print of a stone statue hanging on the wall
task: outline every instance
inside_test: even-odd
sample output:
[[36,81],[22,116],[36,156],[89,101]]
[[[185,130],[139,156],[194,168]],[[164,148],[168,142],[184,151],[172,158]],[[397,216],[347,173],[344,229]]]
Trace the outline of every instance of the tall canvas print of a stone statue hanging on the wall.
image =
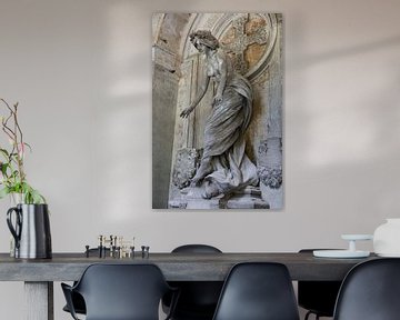
[[153,209],[282,209],[282,57],[281,13],[153,14]]

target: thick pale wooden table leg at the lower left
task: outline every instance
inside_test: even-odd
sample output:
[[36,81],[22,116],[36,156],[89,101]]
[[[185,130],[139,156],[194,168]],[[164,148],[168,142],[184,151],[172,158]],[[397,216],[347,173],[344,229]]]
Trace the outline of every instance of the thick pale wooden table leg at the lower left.
[[26,320],[54,320],[53,282],[24,282]]

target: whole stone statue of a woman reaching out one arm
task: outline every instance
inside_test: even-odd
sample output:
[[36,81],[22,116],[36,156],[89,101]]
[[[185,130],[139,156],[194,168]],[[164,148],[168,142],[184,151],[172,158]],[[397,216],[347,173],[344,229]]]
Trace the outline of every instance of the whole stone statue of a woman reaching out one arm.
[[257,168],[244,152],[244,133],[252,113],[251,84],[236,72],[230,58],[210,31],[198,30],[190,34],[190,41],[204,56],[206,74],[198,97],[180,117],[189,117],[210,82],[216,84],[212,110],[206,121],[203,154],[191,184],[204,186],[202,197],[206,199],[249,184],[257,186]]

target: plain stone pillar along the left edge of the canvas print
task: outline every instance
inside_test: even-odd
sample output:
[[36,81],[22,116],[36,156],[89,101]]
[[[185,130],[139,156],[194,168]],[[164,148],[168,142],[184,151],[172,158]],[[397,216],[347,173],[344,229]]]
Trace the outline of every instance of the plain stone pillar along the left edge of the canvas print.
[[[168,207],[177,97],[180,30],[190,14],[153,16],[152,46],[152,208]],[[143,133],[146,134],[146,133]]]

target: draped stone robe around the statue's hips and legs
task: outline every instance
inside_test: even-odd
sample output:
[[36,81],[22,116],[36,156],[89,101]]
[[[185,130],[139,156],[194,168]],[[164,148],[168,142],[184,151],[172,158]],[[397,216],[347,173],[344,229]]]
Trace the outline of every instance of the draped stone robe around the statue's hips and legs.
[[257,168],[244,152],[251,113],[251,86],[234,74],[224,88],[222,101],[212,107],[204,129],[203,158],[211,157],[214,170],[204,180],[216,184],[219,192],[258,183]]

